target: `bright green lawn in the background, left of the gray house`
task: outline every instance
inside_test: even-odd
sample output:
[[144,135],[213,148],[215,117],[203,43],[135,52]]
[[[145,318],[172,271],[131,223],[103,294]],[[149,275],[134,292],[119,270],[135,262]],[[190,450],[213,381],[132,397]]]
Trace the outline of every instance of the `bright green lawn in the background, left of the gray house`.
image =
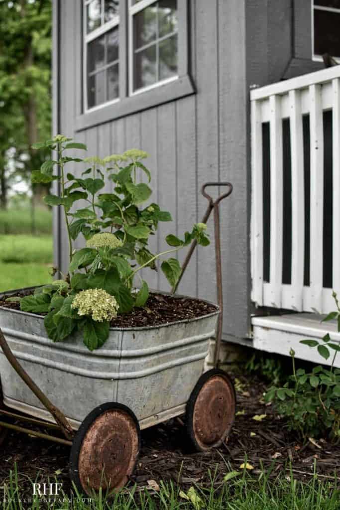
[[0,291],[50,282],[52,262],[51,236],[0,235]]

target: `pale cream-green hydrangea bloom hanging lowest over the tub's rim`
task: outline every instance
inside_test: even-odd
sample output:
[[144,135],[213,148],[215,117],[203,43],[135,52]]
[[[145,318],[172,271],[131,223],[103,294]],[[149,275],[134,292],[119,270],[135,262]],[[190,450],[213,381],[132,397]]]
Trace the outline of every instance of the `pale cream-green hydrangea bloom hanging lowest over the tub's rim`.
[[77,309],[80,316],[86,315],[97,322],[103,322],[117,317],[119,304],[103,289],[88,289],[75,296],[71,308]]

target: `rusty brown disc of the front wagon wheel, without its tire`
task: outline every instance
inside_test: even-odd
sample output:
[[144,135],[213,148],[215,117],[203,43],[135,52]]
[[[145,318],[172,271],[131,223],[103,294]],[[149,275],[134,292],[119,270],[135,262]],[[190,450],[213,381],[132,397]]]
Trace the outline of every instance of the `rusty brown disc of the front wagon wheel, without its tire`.
[[139,453],[134,419],[122,410],[101,414],[89,427],[79,454],[79,478],[84,489],[120,489],[134,470]]

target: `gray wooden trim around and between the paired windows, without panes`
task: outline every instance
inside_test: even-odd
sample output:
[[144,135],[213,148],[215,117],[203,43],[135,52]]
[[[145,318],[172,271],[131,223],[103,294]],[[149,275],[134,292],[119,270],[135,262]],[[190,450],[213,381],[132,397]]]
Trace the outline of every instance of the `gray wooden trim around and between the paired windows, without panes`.
[[185,97],[196,92],[190,75],[190,33],[189,33],[189,0],[178,2],[178,78],[155,86],[150,90],[128,95],[128,5],[120,2],[119,22],[119,90],[120,99],[114,103],[103,104],[84,113],[83,90],[83,0],[80,3],[80,16],[77,16],[76,30],[76,116],[75,132],[89,129],[92,126],[125,117],[155,106],[169,103],[175,99]]

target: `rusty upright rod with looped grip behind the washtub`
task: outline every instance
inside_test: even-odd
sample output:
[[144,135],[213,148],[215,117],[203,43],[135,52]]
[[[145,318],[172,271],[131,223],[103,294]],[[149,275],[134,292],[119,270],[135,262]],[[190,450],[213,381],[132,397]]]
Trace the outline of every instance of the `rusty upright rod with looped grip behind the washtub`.
[[[215,201],[206,193],[206,188],[211,186],[227,186],[229,190],[220,195]],[[211,209],[214,209],[214,234],[215,234],[215,258],[216,258],[216,282],[217,282],[217,300],[220,307],[220,315],[217,321],[216,344],[214,353],[214,367],[217,368],[220,362],[220,349],[223,328],[223,288],[222,288],[222,262],[221,262],[221,232],[220,232],[220,209],[219,204],[223,198],[229,196],[232,192],[230,183],[206,183],[202,186],[202,195],[209,201]]]

